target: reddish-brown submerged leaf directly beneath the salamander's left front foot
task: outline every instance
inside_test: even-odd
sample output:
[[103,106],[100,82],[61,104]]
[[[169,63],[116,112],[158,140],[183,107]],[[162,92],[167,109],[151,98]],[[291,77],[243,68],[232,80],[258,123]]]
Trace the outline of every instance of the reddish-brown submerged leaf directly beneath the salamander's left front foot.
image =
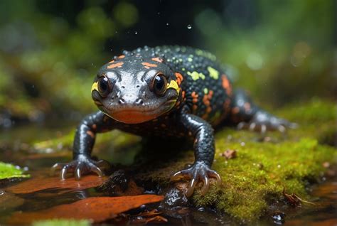
[[23,181],[14,186],[6,188],[11,193],[33,193],[47,189],[60,189],[58,194],[68,193],[75,190],[83,190],[101,185],[107,180],[107,177],[98,177],[96,175],[83,176],[80,181],[75,178],[67,178],[65,181],[60,181],[58,177],[40,176],[31,178],[28,181]]

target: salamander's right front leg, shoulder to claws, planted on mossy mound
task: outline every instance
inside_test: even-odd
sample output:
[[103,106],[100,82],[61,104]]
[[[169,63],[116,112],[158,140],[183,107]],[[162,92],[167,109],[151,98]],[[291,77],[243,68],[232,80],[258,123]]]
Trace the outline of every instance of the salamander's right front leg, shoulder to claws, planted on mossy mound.
[[213,128],[200,117],[193,114],[181,113],[181,123],[194,136],[194,155],[195,161],[189,168],[174,173],[171,180],[179,178],[191,179],[186,196],[193,195],[198,181],[203,181],[201,194],[205,195],[210,186],[209,178],[216,178],[218,184],[221,183],[220,175],[211,170],[214,159],[214,135]]

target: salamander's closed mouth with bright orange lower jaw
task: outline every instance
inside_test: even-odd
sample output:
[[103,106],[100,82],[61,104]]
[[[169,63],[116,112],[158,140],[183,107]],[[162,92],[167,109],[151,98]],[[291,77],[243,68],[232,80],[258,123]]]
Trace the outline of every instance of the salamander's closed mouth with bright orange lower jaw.
[[152,119],[156,119],[166,112],[169,112],[170,109],[176,104],[175,99],[171,99],[163,104],[159,105],[159,107],[146,109],[135,109],[135,107],[122,107],[119,109],[113,107],[103,107],[103,112],[107,114],[112,119],[123,122],[126,124],[138,124],[141,122],[147,122]]

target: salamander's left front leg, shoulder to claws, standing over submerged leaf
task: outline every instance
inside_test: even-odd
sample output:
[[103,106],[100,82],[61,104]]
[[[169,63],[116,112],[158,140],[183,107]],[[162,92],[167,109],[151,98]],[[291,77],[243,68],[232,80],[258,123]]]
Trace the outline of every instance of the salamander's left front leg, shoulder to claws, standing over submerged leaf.
[[113,119],[109,119],[102,112],[90,114],[77,127],[73,145],[73,161],[70,163],[55,163],[51,173],[60,170],[60,179],[65,180],[67,173],[74,173],[79,180],[83,174],[90,172],[103,176],[103,168],[109,168],[104,160],[95,161],[91,158],[92,147],[95,144],[97,132],[108,131],[113,127]]

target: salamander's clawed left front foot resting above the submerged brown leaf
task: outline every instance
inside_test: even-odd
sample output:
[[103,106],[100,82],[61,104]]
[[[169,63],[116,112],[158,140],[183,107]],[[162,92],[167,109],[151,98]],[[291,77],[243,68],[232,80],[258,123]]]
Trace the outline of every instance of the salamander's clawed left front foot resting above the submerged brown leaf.
[[80,180],[83,174],[94,172],[97,176],[104,176],[101,168],[109,168],[106,161],[94,161],[86,156],[81,156],[70,163],[55,163],[50,169],[50,173],[54,174],[56,170],[60,170],[60,180],[64,181],[67,173],[74,173],[75,179]]

